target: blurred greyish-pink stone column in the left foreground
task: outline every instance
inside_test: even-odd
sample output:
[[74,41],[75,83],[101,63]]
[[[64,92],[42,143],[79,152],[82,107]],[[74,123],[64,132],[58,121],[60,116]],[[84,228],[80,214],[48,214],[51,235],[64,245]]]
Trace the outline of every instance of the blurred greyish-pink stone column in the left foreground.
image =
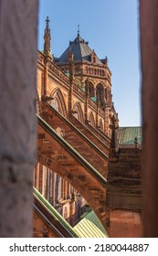
[[0,237],[32,236],[37,5],[0,0]]

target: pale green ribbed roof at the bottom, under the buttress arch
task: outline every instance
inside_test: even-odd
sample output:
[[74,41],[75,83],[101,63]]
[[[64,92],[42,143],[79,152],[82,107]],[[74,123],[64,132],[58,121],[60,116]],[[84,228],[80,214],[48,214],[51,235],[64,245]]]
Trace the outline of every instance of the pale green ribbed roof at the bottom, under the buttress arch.
[[94,211],[90,211],[86,217],[79,221],[73,228],[79,238],[107,238],[108,234],[100,223]]

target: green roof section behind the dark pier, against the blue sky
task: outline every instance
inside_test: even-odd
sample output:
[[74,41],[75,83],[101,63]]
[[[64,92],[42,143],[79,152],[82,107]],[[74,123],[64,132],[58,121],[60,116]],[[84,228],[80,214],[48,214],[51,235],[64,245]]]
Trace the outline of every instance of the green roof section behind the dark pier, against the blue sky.
[[137,137],[138,144],[142,144],[142,127],[120,127],[118,131],[119,144],[134,144]]

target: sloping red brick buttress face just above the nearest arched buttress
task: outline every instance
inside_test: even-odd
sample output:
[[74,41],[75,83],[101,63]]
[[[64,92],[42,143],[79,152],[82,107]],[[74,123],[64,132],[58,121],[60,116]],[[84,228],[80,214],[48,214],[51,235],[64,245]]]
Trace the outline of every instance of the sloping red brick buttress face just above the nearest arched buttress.
[[102,176],[107,176],[108,157],[106,157],[106,155],[101,154],[100,150],[97,150],[95,145],[93,146],[93,144],[86,140],[86,138],[73,129],[73,126],[66,123],[62,116],[52,108],[50,110],[45,106],[43,117],[55,130],[61,128],[64,134],[64,139],[68,144],[70,144],[79,155],[82,155]]

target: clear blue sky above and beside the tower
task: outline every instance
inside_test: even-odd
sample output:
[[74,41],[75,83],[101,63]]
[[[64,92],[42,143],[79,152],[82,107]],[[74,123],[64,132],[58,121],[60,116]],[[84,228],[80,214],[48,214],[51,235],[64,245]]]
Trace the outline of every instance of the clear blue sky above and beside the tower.
[[138,0],[39,0],[39,49],[43,49],[46,16],[56,57],[77,37],[78,25],[80,36],[98,57],[108,57],[120,126],[141,125]]

